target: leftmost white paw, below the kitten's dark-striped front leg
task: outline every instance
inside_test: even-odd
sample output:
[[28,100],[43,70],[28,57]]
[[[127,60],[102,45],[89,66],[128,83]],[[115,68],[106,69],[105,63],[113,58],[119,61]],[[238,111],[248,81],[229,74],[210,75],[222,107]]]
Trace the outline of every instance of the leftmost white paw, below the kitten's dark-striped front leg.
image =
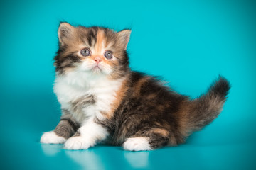
[[41,143],[50,143],[50,144],[62,144],[66,141],[64,137],[60,137],[56,135],[55,132],[50,131],[50,132],[44,132],[40,142]]

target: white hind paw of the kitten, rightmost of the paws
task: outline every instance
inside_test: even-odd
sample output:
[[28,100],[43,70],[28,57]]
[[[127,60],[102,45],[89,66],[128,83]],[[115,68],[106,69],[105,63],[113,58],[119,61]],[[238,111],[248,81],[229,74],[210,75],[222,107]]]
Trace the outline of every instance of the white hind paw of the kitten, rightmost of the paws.
[[151,150],[147,137],[129,137],[124,142],[123,147],[124,150],[129,151]]

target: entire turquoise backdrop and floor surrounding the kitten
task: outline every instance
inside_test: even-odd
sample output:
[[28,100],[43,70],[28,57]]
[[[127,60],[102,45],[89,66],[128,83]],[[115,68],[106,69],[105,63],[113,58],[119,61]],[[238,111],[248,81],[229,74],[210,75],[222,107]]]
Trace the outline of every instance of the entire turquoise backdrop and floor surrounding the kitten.
[[[255,1],[1,1],[0,169],[256,169]],[[127,152],[42,145],[60,105],[53,94],[58,24],[132,28],[133,69],[195,98],[223,75],[223,113],[184,145]]]

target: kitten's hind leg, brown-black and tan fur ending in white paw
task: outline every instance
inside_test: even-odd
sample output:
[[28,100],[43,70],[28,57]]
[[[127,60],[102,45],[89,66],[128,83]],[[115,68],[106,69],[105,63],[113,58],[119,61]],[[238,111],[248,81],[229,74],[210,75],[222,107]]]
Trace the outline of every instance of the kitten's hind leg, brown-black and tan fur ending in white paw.
[[146,132],[127,138],[124,149],[129,151],[153,150],[168,145],[169,132],[161,128],[154,128]]

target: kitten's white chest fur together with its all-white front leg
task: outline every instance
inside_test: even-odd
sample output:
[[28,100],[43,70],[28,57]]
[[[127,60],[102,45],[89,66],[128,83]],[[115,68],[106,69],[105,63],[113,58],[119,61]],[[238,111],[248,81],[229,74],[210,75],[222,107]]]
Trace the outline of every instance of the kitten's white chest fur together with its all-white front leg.
[[[81,67],[81,66],[80,66]],[[92,147],[98,140],[104,140],[108,132],[101,125],[95,123],[95,119],[104,120],[105,113],[111,111],[111,104],[116,96],[116,91],[122,85],[124,78],[118,80],[108,79],[103,73],[81,71],[68,72],[64,76],[55,79],[54,91],[61,104],[61,108],[67,109],[82,124],[78,130],[79,137],[70,137],[65,142],[65,149],[87,149]],[[95,103],[87,106],[82,111],[72,111],[70,103],[82,96],[95,96]]]

